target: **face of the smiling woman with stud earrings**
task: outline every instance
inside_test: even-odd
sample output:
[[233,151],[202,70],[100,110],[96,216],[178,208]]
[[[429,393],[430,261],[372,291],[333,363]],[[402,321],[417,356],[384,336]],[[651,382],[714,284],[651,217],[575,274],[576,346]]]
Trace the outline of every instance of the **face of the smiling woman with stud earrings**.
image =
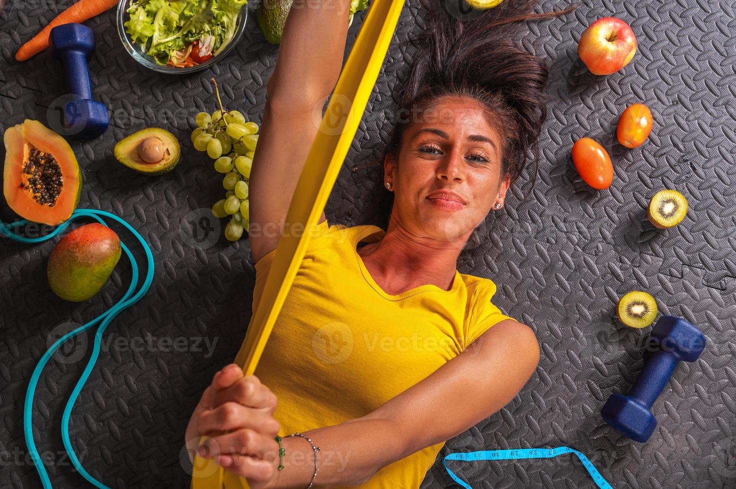
[[465,97],[439,99],[434,110],[408,117],[398,163],[384,163],[395,193],[392,221],[414,238],[461,249],[509,188],[500,134]]

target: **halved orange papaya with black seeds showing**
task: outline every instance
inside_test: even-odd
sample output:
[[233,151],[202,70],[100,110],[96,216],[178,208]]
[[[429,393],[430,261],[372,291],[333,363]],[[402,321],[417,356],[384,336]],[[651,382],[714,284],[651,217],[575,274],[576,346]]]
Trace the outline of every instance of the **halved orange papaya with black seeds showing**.
[[38,121],[9,127],[3,138],[3,193],[15,213],[56,226],[71,217],[82,194],[82,171],[64,138]]

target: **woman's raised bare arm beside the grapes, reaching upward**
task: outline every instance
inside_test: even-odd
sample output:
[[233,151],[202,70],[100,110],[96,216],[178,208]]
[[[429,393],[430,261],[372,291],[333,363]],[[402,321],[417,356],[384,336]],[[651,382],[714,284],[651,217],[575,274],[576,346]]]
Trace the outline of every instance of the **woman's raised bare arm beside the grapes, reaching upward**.
[[342,68],[349,15],[350,0],[296,0],[286,19],[250,174],[248,239],[255,261],[277,246]]

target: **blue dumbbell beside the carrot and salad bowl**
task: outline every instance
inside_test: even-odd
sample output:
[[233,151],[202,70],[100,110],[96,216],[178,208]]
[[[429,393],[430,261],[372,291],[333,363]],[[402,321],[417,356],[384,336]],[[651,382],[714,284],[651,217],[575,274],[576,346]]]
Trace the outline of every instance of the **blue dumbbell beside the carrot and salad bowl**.
[[62,60],[66,85],[71,92],[63,110],[65,135],[91,139],[107,131],[110,120],[107,107],[92,99],[92,82],[87,60],[94,53],[92,29],[82,24],[63,24],[51,29],[49,45],[52,57]]

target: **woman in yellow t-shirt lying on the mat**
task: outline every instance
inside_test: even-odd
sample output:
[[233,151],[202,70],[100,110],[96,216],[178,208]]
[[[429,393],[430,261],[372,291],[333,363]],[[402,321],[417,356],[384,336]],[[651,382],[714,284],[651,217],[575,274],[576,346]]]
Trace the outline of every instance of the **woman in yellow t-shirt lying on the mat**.
[[[492,303],[494,282],[456,267],[545,119],[548,71],[516,31],[561,12],[514,0],[463,21],[442,1],[422,0],[425,32],[400,87],[377,188],[385,231],[323,213],[255,375],[241,348],[191,416],[188,446],[207,435],[198,453],[222,465],[225,488],[418,488],[445,441],[537,367],[534,332]],[[350,0],[305,5],[286,21],[250,177],[254,310],[342,68]]]

